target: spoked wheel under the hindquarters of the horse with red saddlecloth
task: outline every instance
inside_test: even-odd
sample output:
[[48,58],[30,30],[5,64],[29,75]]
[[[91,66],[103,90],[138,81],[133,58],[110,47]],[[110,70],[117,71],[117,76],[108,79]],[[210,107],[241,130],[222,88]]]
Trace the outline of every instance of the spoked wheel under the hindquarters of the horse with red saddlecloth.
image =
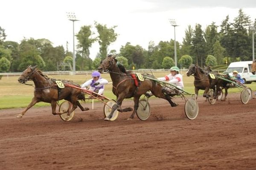
[[137,116],[140,120],[147,120],[150,116],[150,105],[146,99],[140,99],[137,109]]

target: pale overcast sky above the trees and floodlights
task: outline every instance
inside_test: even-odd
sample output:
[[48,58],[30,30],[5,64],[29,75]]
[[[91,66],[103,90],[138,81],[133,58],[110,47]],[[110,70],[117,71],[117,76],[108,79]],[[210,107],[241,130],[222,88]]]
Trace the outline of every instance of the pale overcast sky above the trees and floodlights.
[[[94,21],[118,34],[108,50],[119,52],[126,42],[148,49],[148,43],[174,40],[174,27],[169,19],[175,19],[176,41],[183,41],[189,25],[206,26],[215,22],[219,26],[227,15],[230,22],[238,16],[239,8],[256,19],[256,0],[4,0],[1,2],[0,26],[5,29],[6,40],[20,43],[24,38],[50,40],[53,46],[63,45],[73,51],[73,22],[67,12],[76,14],[74,26],[77,34],[81,26],[92,26]],[[75,45],[77,41],[75,40]],[[90,48],[90,58],[99,52],[98,42]]]

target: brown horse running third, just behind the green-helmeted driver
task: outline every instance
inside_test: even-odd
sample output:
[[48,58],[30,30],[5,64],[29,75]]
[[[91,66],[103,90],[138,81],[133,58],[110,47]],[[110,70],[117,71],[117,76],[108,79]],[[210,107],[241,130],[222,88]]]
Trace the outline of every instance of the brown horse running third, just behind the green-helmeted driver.
[[214,91],[213,97],[215,99],[217,98],[217,95],[218,95],[217,91],[220,90],[222,80],[218,78],[211,79],[209,77],[209,73],[210,73],[209,71],[207,71],[206,73],[204,70],[198,67],[197,64],[192,64],[189,66],[189,69],[186,72],[187,76],[193,75],[195,77],[194,86],[195,86],[196,99],[198,98],[199,90],[204,90],[203,97],[209,97],[207,93],[210,88],[212,88]]

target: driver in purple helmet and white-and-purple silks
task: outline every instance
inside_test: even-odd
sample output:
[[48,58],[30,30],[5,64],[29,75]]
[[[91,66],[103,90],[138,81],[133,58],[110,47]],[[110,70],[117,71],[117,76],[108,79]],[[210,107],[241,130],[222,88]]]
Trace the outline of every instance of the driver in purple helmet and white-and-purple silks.
[[92,79],[84,82],[81,85],[81,88],[89,87],[90,91],[94,91],[97,94],[103,95],[104,93],[104,85],[108,84],[108,80],[100,77],[100,73],[98,71],[94,71],[92,73]]

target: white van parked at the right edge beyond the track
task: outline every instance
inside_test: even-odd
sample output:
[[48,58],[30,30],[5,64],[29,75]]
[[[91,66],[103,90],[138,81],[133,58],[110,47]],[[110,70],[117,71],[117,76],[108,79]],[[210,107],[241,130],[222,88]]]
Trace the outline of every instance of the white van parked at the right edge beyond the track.
[[252,82],[256,82],[256,75],[251,73],[251,65],[253,61],[239,61],[239,62],[231,62],[227,68],[227,72],[230,75],[233,75],[233,71],[238,71],[238,74],[244,79],[244,82],[250,84]]

